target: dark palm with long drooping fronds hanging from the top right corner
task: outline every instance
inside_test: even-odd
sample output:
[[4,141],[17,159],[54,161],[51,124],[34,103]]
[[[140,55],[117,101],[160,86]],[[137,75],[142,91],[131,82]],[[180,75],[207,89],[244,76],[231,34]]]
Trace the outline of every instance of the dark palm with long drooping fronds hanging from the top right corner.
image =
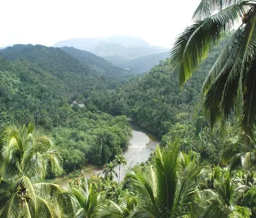
[[[210,49],[231,32],[203,84],[203,108],[212,127],[219,118],[225,123],[237,105],[241,131],[250,136],[256,124],[255,6],[256,1],[202,0],[193,15],[194,24],[176,38],[171,51],[183,85]],[[242,24],[232,32],[239,21]]]

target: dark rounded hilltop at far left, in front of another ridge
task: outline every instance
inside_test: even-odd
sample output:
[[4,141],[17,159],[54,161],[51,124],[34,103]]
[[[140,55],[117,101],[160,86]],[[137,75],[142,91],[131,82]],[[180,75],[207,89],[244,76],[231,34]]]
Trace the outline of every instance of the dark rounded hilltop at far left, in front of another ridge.
[[79,60],[59,48],[41,45],[14,45],[0,51],[0,57],[7,60],[25,59],[36,63],[49,72],[73,72],[81,75],[96,74]]

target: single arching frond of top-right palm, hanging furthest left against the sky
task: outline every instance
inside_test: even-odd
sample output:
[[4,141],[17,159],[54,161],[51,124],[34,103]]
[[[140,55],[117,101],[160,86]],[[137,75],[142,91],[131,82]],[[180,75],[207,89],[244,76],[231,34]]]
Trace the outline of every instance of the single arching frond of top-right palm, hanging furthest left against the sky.
[[171,62],[179,70],[180,85],[193,75],[209,50],[234,27],[247,8],[242,3],[236,4],[204,20],[196,20],[176,38]]

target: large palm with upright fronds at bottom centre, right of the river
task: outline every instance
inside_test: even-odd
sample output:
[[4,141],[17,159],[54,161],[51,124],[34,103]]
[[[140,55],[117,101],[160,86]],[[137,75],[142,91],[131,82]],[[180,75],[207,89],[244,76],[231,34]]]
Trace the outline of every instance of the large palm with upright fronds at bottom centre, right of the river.
[[196,156],[187,161],[179,154],[178,142],[162,151],[156,148],[154,166],[134,169],[126,174],[138,196],[138,206],[131,217],[190,217],[197,211],[199,184],[206,168]]

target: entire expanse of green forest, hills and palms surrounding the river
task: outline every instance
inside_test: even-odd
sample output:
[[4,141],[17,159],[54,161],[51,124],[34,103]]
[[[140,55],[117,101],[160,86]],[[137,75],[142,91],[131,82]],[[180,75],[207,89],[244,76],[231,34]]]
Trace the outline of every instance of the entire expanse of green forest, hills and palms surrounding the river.
[[[1,49],[0,218],[256,217],[255,7],[202,0],[139,75],[73,47]],[[161,141],[120,180],[127,118]]]

